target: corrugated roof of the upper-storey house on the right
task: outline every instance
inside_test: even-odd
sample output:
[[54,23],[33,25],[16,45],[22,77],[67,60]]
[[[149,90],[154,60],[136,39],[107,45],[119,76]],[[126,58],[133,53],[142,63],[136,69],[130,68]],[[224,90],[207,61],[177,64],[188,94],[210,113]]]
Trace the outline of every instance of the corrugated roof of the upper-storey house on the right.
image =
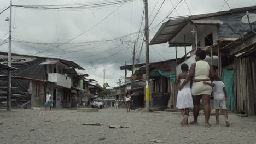
[[[154,35],[154,38],[150,41],[150,45],[161,44],[170,42],[170,46],[184,46],[191,45],[191,41],[187,41],[187,44],[184,44],[184,38],[177,38],[176,35],[183,31],[190,32],[191,26],[197,25],[222,25],[223,22],[214,18],[214,16],[225,15],[230,13],[238,13],[246,10],[256,9],[256,6],[253,7],[244,7],[244,8],[236,8],[228,11],[221,11],[218,13],[208,13],[208,14],[200,14],[193,16],[181,16],[174,17],[174,19],[169,19],[168,21],[162,23],[158,32]],[[191,26],[189,26],[191,25]],[[184,35],[182,33],[181,35]],[[187,39],[191,37],[191,34],[186,33]]]

